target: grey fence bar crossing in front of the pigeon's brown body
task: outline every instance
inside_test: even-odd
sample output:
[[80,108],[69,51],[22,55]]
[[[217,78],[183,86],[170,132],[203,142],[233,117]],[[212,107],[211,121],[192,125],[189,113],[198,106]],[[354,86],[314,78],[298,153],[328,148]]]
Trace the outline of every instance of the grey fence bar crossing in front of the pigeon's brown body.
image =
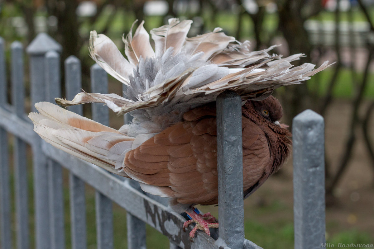
[[233,91],[217,97],[218,233],[232,249],[244,243],[241,103]]

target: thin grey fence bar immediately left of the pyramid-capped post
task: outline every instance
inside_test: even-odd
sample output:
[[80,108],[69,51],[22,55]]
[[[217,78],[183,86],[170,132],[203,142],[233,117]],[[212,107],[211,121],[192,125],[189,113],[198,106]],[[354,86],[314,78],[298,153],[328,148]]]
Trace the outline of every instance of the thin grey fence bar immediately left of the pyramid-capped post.
[[[12,103],[17,116],[22,118],[25,113],[24,99],[24,64],[23,47],[19,41],[11,46],[12,50]],[[14,185],[15,185],[15,206],[16,206],[16,237],[18,248],[28,248],[28,198],[27,198],[27,162],[26,143],[14,138]]]

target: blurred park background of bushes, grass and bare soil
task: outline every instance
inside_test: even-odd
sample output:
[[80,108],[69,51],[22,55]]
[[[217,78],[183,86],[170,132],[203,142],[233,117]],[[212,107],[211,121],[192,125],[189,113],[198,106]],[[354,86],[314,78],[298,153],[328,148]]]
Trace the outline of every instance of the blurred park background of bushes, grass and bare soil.
[[[83,89],[89,91],[91,30],[106,34],[123,52],[122,34],[129,32],[135,19],[145,20],[144,26],[150,30],[170,17],[193,20],[188,36],[221,27],[239,41],[251,41],[253,50],[280,44],[273,53],[304,53],[306,57],[296,65],[336,62],[304,84],[280,88],[275,95],[282,102],[286,124],[291,125],[292,118],[307,108],[325,118],[327,241],[373,244],[374,0],[3,0],[0,37],[6,41],[9,63],[11,42],[19,40],[26,47],[36,34],[47,32],[62,45],[62,62],[70,55],[82,61]],[[26,85],[27,60],[25,56]],[[109,92],[120,94],[122,86],[116,80],[110,78],[109,86]],[[90,116],[89,105],[85,113]],[[122,117],[112,113],[112,127],[119,128],[122,122]],[[33,212],[31,166],[29,178]],[[67,178],[65,218],[66,234],[70,234]],[[94,191],[87,188],[88,248],[96,248]],[[289,159],[245,200],[246,238],[263,248],[293,248],[292,207]],[[218,217],[217,207],[201,209]],[[33,227],[33,215],[30,217]],[[117,206],[114,225],[114,246],[126,248],[126,213]],[[34,246],[33,232],[30,236]],[[70,248],[69,236],[67,243]],[[168,248],[166,237],[151,229],[147,244],[148,248]]]

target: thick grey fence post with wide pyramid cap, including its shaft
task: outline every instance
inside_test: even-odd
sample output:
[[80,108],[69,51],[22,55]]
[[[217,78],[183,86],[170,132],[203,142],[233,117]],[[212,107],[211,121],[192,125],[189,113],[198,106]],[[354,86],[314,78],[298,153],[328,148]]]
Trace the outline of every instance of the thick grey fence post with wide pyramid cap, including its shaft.
[[[46,98],[44,56],[50,50],[61,51],[62,47],[45,33],[38,34],[26,49],[30,56],[31,109],[33,111],[36,110],[34,104],[45,101]],[[33,166],[37,249],[50,248],[48,167],[41,143],[42,139],[35,134]]]

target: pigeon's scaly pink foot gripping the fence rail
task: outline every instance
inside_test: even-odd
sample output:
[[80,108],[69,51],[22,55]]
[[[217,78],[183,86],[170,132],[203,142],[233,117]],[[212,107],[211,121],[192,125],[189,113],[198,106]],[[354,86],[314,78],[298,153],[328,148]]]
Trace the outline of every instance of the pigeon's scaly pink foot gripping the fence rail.
[[193,242],[193,238],[195,237],[197,229],[203,230],[206,234],[208,234],[208,236],[210,236],[209,228],[218,228],[217,219],[214,218],[214,216],[210,213],[201,215],[197,214],[194,210],[188,210],[185,212],[186,214],[190,215],[192,219],[184,222],[183,231],[186,231],[185,228],[188,227],[191,223],[196,223],[195,227],[190,231],[191,242]]

